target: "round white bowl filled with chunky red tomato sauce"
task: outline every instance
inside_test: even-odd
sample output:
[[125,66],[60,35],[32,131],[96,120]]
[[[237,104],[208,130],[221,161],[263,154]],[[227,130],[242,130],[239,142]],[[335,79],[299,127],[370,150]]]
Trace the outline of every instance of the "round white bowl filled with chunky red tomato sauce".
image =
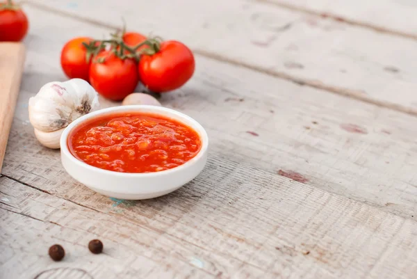
[[116,106],[63,131],[61,161],[75,180],[105,196],[140,200],[170,193],[204,168],[208,136],[188,115],[161,106]]

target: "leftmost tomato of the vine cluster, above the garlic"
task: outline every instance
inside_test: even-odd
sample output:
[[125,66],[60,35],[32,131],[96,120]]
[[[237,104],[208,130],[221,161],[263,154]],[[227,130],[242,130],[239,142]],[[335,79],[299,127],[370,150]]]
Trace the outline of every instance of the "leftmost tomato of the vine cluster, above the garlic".
[[68,41],[60,54],[60,63],[63,71],[70,79],[84,79],[89,81],[90,63],[87,63],[83,42],[89,43],[92,38],[79,37]]

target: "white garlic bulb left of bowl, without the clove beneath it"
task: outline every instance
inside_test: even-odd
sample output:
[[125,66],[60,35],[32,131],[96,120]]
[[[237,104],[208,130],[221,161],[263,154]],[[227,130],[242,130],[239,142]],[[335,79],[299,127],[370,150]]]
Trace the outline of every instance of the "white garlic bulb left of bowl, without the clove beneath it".
[[56,131],[77,118],[99,109],[99,97],[83,79],[53,81],[29,99],[29,120],[38,131]]

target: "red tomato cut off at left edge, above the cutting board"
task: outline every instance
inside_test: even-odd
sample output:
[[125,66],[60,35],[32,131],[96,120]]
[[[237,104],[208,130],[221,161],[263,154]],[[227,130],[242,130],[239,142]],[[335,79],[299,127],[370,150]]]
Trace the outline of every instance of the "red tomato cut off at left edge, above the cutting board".
[[0,3],[0,41],[19,42],[28,32],[28,18],[20,8],[10,3]]

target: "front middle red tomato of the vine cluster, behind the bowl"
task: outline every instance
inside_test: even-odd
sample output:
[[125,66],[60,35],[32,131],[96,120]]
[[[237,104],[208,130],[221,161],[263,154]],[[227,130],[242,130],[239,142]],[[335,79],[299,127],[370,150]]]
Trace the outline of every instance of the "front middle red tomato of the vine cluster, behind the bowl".
[[[100,59],[104,59],[104,62],[98,63]],[[113,51],[101,51],[90,65],[90,83],[99,94],[120,101],[133,93],[138,85],[136,67],[133,59],[122,60]]]

